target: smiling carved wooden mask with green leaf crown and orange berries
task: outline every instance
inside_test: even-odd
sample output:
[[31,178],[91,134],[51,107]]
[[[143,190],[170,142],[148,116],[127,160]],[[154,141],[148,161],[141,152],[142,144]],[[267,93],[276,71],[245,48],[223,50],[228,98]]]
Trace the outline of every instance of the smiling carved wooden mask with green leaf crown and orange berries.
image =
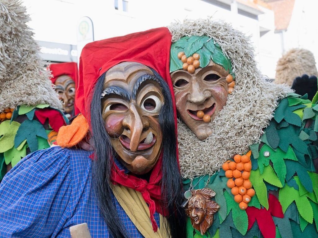
[[198,139],[205,140],[212,133],[209,122],[235,85],[231,62],[208,36],[181,38],[172,44],[170,57],[178,114]]

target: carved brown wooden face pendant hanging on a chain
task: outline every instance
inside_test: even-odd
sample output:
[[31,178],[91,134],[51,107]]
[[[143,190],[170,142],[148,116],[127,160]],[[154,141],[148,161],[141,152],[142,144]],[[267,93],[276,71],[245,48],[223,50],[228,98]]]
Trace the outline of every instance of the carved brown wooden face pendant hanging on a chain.
[[215,192],[210,188],[191,190],[186,214],[190,216],[193,228],[202,235],[213,223],[213,214],[220,209],[220,205],[211,200]]

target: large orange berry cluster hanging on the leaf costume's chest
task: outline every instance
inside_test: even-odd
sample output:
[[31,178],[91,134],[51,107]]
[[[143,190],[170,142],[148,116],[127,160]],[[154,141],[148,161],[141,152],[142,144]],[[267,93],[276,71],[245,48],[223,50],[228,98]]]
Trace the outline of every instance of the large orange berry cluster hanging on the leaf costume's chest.
[[222,169],[225,170],[225,176],[229,178],[226,185],[231,188],[235,202],[239,203],[242,210],[245,210],[252,196],[255,195],[249,180],[252,169],[251,158],[248,155],[235,155],[234,161],[226,161]]

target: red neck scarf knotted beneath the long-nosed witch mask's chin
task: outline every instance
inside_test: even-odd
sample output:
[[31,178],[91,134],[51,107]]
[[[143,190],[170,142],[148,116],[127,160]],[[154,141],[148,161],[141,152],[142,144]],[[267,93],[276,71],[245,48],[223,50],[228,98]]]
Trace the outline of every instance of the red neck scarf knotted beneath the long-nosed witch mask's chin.
[[121,184],[127,188],[135,189],[142,194],[143,199],[149,206],[150,221],[152,229],[156,232],[158,225],[155,221],[154,214],[159,212],[162,215],[167,215],[167,212],[162,208],[161,196],[161,179],[162,179],[162,154],[152,169],[149,182],[145,179],[138,178],[131,174],[125,174],[124,170],[120,170],[114,163],[111,169],[111,180],[113,184]]

